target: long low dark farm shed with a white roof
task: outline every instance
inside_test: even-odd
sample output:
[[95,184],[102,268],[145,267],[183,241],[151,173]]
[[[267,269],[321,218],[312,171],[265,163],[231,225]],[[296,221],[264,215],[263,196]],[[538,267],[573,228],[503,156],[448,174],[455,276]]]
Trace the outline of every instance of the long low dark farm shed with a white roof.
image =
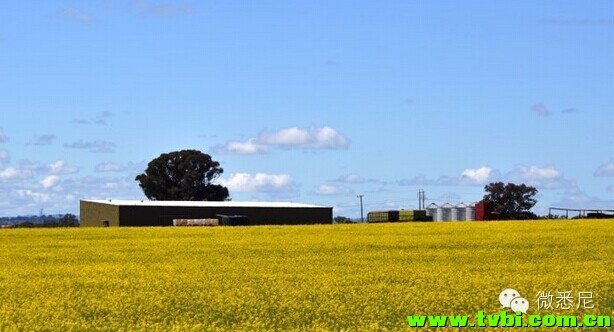
[[[81,226],[172,226],[177,219],[236,216],[241,224],[332,224],[333,208],[286,202],[81,200]],[[241,217],[238,217],[241,216]]]

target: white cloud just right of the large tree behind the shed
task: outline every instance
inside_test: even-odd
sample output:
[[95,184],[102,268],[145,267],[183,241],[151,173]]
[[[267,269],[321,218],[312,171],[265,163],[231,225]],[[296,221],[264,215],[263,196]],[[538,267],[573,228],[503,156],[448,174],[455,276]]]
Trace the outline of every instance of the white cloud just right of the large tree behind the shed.
[[296,184],[292,177],[287,174],[266,173],[235,173],[228,180],[220,180],[223,186],[228,187],[232,193],[279,193],[296,190]]

